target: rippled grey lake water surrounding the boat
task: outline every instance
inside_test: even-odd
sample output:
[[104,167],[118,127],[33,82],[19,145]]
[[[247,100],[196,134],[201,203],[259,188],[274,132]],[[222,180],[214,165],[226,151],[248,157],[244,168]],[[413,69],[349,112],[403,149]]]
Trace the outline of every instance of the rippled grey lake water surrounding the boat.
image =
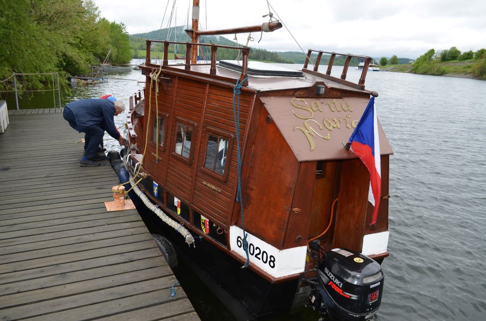
[[[359,75],[350,69],[347,80]],[[63,105],[110,93],[128,106],[144,80],[139,70],[114,75],[77,87]],[[379,93],[378,118],[394,151],[390,257],[373,320],[486,320],[486,82],[380,71],[368,72],[366,88]],[[115,119],[120,126],[125,118]],[[105,138],[105,146],[119,148]],[[192,287],[203,320],[231,320],[203,287]],[[278,320],[317,319],[305,310]]]

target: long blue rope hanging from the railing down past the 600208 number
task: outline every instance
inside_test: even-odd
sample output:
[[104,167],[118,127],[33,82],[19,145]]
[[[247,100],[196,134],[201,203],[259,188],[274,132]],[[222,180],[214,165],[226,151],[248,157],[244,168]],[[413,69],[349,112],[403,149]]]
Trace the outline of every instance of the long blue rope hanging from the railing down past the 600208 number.
[[[240,214],[242,216],[242,227],[243,227],[243,250],[246,254],[246,262],[242,268],[248,267],[250,262],[250,257],[248,254],[248,241],[246,237],[248,233],[244,231],[244,214],[243,214],[243,197],[242,197],[242,152],[240,148],[240,94],[243,83],[248,80],[248,77],[243,78],[241,81],[237,80],[235,88],[233,89],[233,118],[235,120],[235,130],[236,130],[236,142],[237,142],[237,154],[238,154],[238,193],[236,196],[236,201],[240,201]],[[235,97],[238,99],[238,103],[235,102]]]

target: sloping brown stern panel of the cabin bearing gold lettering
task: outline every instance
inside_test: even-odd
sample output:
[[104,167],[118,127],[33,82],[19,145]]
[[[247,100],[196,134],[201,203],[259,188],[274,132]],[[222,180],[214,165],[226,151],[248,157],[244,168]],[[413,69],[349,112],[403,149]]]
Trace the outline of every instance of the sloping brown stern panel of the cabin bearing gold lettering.
[[[357,156],[344,150],[367,104],[366,98],[260,97],[296,158],[300,161],[350,159]],[[380,151],[392,154],[379,124]]]

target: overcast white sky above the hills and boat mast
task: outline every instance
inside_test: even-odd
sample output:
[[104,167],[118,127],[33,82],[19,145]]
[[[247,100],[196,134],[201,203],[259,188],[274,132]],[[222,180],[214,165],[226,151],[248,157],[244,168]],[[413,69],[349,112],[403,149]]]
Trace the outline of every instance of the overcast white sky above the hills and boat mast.
[[[94,0],[101,16],[123,22],[129,34],[173,26],[168,24],[174,0]],[[207,2],[207,4],[206,4]],[[284,27],[253,33],[250,47],[269,51],[307,49],[372,57],[415,59],[434,48],[462,52],[486,48],[485,0],[269,0]],[[185,25],[192,0],[178,0],[177,25]],[[267,22],[266,0],[200,0],[202,29],[259,25]],[[206,12],[207,11],[207,12]],[[277,17],[278,15],[278,17]],[[206,19],[207,17],[207,19]],[[189,24],[191,22],[189,21]],[[290,33],[289,33],[290,31]],[[296,41],[292,38],[295,37]],[[238,42],[246,43],[247,34]],[[234,35],[227,35],[233,40]]]

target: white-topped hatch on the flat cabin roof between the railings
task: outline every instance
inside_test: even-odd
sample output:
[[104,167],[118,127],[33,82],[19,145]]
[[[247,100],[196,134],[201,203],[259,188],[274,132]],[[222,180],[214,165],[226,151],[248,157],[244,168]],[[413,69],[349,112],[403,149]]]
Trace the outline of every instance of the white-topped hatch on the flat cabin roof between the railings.
[[[220,60],[219,65],[223,68],[241,72],[242,63],[236,60]],[[251,76],[273,76],[273,77],[304,77],[301,70],[281,67],[276,64],[262,62],[248,62],[248,75]]]

